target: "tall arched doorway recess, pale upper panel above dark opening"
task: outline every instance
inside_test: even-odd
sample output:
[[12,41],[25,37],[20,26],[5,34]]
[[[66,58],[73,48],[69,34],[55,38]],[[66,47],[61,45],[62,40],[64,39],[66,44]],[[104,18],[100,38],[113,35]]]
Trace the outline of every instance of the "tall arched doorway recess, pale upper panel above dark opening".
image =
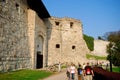
[[36,68],[43,67],[43,37],[38,36],[37,39],[37,53],[36,53]]

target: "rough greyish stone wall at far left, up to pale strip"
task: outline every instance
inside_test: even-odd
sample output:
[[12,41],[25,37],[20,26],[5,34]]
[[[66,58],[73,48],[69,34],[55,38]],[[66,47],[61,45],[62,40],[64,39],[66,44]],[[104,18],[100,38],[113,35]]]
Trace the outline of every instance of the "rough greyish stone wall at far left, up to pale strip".
[[0,72],[30,68],[26,0],[0,0]]

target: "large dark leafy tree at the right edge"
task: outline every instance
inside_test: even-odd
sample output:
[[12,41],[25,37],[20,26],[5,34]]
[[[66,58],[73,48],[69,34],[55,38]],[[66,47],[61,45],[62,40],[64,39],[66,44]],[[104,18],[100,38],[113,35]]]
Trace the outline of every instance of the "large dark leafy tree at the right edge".
[[109,32],[107,40],[110,41],[107,46],[107,59],[111,60],[113,65],[120,67],[120,31]]

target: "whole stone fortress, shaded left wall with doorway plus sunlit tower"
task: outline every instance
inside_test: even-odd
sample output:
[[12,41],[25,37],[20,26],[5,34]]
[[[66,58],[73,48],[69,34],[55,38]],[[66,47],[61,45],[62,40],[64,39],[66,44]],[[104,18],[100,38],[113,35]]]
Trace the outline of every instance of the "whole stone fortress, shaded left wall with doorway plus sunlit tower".
[[0,0],[0,72],[83,63],[86,53],[79,20],[41,19],[27,0]]

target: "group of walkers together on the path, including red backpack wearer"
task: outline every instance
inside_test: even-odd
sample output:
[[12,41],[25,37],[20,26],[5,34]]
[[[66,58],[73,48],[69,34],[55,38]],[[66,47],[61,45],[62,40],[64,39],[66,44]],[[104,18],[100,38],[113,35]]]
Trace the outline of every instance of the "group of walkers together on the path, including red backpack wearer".
[[78,67],[75,64],[71,63],[67,67],[67,77],[68,80],[75,80],[75,75],[78,75],[78,80],[93,80],[94,72],[89,63],[84,63],[83,65],[78,64]]

